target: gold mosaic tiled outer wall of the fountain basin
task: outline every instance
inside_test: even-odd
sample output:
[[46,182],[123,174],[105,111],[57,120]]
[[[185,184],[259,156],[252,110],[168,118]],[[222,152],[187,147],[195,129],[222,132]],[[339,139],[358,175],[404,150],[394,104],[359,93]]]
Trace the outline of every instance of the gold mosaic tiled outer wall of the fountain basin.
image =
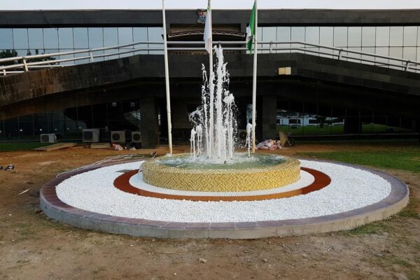
[[294,158],[286,158],[286,162],[272,167],[212,170],[168,167],[160,165],[155,159],[144,162],[142,169],[145,183],[174,190],[265,190],[286,186],[300,179],[300,162]]

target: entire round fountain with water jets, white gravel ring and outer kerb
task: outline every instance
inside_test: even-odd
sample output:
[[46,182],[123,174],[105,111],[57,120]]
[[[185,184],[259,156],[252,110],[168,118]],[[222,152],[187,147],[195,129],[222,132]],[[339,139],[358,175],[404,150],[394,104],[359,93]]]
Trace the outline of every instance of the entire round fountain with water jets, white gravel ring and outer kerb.
[[118,156],[59,174],[41,188],[44,213],[134,236],[258,238],[348,230],[407,205],[407,185],[377,170],[251,153],[251,125],[248,151],[235,152],[235,99],[223,50],[216,54],[214,83],[203,66],[202,104],[190,115],[190,153]]

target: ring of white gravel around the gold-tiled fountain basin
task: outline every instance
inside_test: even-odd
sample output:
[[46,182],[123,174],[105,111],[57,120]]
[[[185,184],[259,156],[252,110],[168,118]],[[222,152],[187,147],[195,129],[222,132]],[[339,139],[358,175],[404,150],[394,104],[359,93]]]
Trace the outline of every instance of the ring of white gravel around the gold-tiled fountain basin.
[[57,186],[60,200],[101,214],[179,223],[272,221],[337,214],[383,200],[391,184],[364,170],[328,162],[300,160],[331,178],[329,186],[295,197],[251,202],[191,202],[141,197],[118,190],[113,181],[122,169],[142,162],[113,165],[72,176]]

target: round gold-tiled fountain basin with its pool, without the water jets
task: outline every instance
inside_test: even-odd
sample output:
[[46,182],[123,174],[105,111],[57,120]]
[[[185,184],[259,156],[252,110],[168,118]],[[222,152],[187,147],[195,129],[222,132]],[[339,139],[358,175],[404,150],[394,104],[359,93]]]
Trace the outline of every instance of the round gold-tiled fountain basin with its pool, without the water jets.
[[142,165],[143,181],[160,188],[205,192],[279,188],[300,179],[300,162],[280,155],[235,153],[230,163],[163,156]]

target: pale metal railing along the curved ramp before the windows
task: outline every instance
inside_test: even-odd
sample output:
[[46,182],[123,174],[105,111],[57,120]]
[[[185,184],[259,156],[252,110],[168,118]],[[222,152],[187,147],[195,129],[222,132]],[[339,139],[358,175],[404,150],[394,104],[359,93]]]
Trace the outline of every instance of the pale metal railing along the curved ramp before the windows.
[[[246,42],[242,41],[219,41],[213,42],[214,45],[242,45],[240,47],[227,47],[224,50],[232,51],[247,51],[244,47]],[[138,45],[146,45],[140,46]],[[152,45],[152,47],[151,47]],[[154,45],[162,45],[161,47],[154,47]],[[204,45],[204,41],[174,41],[168,42],[169,51],[202,51],[206,49],[204,47],[176,47],[176,45]],[[399,57],[388,57],[384,55],[377,55],[369,52],[360,52],[357,50],[349,50],[346,48],[335,48],[327,45],[317,45],[313,43],[306,43],[300,41],[262,41],[258,42],[258,53],[277,53],[277,52],[304,52],[310,53],[317,56],[332,57],[338,60],[346,59],[351,62],[359,62],[365,64],[374,64],[377,66],[391,67],[394,69],[400,69],[402,71],[420,71],[420,62],[402,59]],[[95,54],[94,52],[100,52],[105,50],[116,50],[115,52]],[[89,62],[94,62],[97,58],[108,57],[113,59],[115,56],[132,54],[136,52],[148,51],[163,51],[163,42],[157,41],[141,41],[136,43],[129,43],[125,45],[115,45],[104,48],[92,48],[84,50],[73,50],[70,52],[55,52],[43,55],[25,55],[18,57],[7,57],[0,59],[0,75],[6,76],[10,73],[22,73],[31,69],[50,68],[50,67],[64,67],[69,65],[63,65],[64,62],[76,62],[78,60],[88,59]],[[69,57],[69,58],[58,58],[64,55],[80,55],[80,57]],[[41,61],[39,61],[42,59]],[[31,60],[36,60],[32,61]],[[12,64],[10,64],[10,62]],[[10,65],[5,65],[10,64]],[[2,65],[2,66],[1,66]]]

